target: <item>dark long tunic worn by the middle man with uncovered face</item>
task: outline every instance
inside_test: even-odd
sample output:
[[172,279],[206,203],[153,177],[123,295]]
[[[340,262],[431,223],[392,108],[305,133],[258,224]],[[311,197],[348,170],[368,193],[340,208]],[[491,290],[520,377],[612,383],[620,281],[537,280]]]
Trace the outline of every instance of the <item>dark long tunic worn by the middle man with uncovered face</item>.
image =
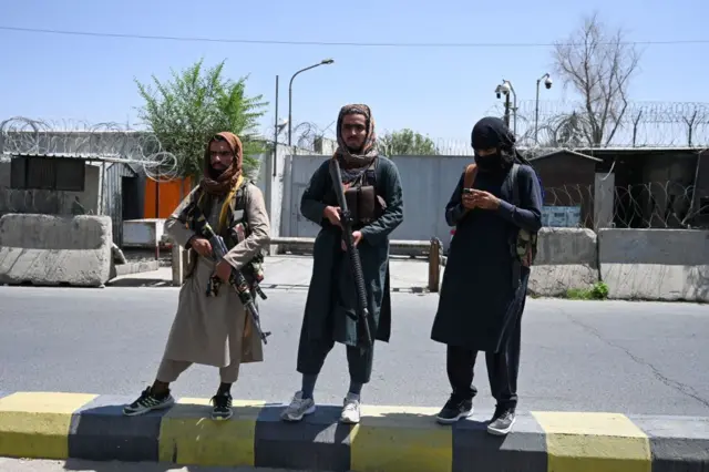
[[[387,203],[384,214],[361,228],[359,248],[370,306],[372,340],[389,341],[391,300],[389,293],[389,235],[403,222],[403,193],[394,163],[379,156],[376,191]],[[306,301],[300,339],[329,340],[357,346],[354,320],[357,291],[349,258],[341,248],[342,232],[322,216],[326,206],[338,206],[329,173],[329,160],[320,165],[302,194],[302,216],[321,226],[312,248],[312,276]]]

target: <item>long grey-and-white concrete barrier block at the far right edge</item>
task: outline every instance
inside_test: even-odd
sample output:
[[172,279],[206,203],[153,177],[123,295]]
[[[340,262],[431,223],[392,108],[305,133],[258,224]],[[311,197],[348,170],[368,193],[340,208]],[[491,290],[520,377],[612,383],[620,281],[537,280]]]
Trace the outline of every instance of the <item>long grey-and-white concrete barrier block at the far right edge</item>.
[[709,301],[709,232],[602,229],[598,243],[609,298]]

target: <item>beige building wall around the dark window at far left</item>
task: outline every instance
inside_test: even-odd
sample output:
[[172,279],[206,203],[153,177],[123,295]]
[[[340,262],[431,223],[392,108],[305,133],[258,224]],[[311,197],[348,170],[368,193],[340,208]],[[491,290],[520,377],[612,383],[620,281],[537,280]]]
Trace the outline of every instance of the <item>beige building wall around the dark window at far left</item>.
[[44,213],[71,215],[75,197],[86,209],[99,214],[99,185],[101,167],[86,164],[84,192],[55,192],[10,188],[10,162],[0,162],[0,215],[6,213]]

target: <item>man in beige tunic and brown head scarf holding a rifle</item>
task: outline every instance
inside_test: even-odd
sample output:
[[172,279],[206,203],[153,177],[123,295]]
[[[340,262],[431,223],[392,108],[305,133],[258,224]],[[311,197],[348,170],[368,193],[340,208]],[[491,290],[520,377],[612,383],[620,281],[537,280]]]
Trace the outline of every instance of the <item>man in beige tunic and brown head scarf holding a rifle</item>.
[[253,293],[260,291],[261,250],[270,240],[270,224],[264,196],[245,178],[242,163],[238,136],[214,136],[202,182],[165,222],[172,240],[189,249],[189,268],[155,381],[124,408],[126,415],[172,406],[169,383],[199,363],[219,368],[212,418],[228,419],[239,366],[264,360],[265,335]]

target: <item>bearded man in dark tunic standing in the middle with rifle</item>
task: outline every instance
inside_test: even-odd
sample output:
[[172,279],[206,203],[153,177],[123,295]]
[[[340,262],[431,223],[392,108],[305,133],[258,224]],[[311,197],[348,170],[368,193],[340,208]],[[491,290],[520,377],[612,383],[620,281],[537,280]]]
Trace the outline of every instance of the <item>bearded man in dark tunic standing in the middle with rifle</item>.
[[388,342],[391,331],[389,235],[403,220],[399,171],[377,152],[367,105],[340,110],[337,142],[335,155],[318,167],[300,201],[302,215],[321,229],[298,345],[302,384],[281,413],[286,421],[315,412],[316,380],[337,341],[346,345],[350,374],[340,420],[359,422],[374,341]]

